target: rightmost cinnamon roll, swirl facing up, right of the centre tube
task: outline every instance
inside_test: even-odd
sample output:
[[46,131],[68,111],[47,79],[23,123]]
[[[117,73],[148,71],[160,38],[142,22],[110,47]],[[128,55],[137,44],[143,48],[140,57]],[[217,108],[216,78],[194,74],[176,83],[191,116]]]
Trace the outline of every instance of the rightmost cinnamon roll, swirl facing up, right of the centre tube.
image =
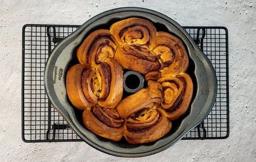
[[187,73],[179,73],[173,77],[160,78],[157,82],[163,87],[163,100],[160,111],[171,121],[184,115],[193,95],[193,82]]

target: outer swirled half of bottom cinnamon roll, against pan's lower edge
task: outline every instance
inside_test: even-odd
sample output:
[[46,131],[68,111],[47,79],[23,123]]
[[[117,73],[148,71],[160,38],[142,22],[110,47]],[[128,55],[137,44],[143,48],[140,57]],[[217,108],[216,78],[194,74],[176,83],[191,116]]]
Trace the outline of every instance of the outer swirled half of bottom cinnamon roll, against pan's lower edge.
[[148,107],[127,119],[124,137],[130,144],[153,142],[165,136],[172,127],[172,123],[165,115],[157,109]]

